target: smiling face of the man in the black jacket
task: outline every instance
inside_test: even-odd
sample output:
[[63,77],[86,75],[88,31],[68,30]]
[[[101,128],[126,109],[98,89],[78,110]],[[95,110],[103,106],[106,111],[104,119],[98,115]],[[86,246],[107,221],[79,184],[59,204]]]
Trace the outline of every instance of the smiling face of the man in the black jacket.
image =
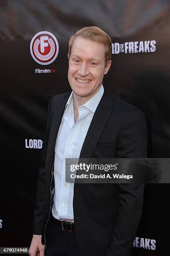
[[73,92],[79,97],[95,95],[110,65],[111,61],[105,67],[103,44],[77,37],[72,45],[68,69],[68,81]]

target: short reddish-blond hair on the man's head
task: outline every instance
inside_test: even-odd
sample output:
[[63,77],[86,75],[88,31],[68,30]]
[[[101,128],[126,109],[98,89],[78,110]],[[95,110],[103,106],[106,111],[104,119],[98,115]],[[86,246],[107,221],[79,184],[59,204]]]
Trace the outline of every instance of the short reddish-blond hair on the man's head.
[[105,31],[98,27],[85,27],[78,30],[74,35],[70,37],[69,46],[68,46],[68,56],[70,58],[72,45],[75,41],[75,38],[81,37],[87,40],[91,40],[105,46],[105,66],[108,61],[111,59],[112,55],[112,41],[110,36],[107,35]]

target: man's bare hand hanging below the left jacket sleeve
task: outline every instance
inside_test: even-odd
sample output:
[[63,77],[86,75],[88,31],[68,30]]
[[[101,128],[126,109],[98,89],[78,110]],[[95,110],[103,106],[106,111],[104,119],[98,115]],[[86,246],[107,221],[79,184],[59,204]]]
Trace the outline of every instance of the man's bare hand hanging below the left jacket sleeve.
[[41,243],[41,236],[33,236],[28,253],[30,256],[44,256],[45,244]]

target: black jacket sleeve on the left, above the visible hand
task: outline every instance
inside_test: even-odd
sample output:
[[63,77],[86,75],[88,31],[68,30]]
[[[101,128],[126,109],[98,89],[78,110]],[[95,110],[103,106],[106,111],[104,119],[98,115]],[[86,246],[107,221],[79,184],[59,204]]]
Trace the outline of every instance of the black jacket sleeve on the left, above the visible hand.
[[33,230],[32,234],[42,235],[43,225],[44,225],[44,213],[45,213],[45,196],[46,196],[46,174],[45,174],[45,161],[47,155],[47,144],[48,144],[48,135],[49,135],[49,115],[50,115],[50,105],[52,99],[48,104],[47,110],[47,127],[46,133],[42,146],[42,153],[40,158],[40,167],[37,178],[37,190],[36,190],[36,199],[35,199],[35,209],[34,209],[34,221],[33,221]]

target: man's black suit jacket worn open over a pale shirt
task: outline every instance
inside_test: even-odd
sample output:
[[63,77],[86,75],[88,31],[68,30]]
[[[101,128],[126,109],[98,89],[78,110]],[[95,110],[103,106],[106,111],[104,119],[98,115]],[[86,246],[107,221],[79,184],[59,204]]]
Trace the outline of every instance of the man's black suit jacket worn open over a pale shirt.
[[[42,244],[53,203],[55,142],[70,93],[55,95],[48,105],[33,226],[33,234],[42,235]],[[80,158],[145,157],[147,125],[143,112],[105,90]],[[143,191],[144,184],[74,184],[75,233],[82,256],[129,255],[142,213]]]

